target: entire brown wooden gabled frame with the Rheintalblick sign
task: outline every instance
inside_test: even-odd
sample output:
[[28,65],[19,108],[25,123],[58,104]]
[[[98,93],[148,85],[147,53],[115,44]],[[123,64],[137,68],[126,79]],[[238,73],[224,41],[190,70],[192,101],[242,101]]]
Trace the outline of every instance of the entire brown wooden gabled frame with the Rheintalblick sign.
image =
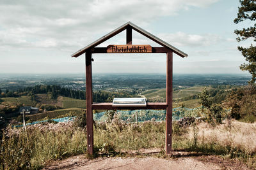
[[[126,45],[109,45],[97,47],[104,41],[116,34],[126,30]],[[132,30],[155,41],[162,47],[151,47],[150,45],[132,45]],[[167,154],[172,153],[172,78],[173,78],[173,52],[180,57],[188,55],[162,39],[141,29],[132,22],[127,22],[114,31],[109,32],[102,38],[97,39],[90,45],[72,54],[72,57],[79,57],[85,53],[86,58],[86,125],[87,125],[87,147],[88,153],[93,154],[93,111],[92,110],[166,110],[166,138],[165,150]],[[112,103],[93,103],[92,99],[92,53],[166,53],[166,103],[147,103],[147,106],[113,106]]]

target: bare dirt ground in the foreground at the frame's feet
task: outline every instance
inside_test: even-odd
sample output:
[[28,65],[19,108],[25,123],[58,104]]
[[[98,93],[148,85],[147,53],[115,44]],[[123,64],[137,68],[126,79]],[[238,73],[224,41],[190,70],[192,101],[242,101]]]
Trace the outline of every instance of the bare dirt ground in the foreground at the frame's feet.
[[200,153],[173,152],[172,157],[157,158],[154,150],[134,152],[131,157],[86,159],[84,155],[51,162],[46,169],[248,169],[237,160]]

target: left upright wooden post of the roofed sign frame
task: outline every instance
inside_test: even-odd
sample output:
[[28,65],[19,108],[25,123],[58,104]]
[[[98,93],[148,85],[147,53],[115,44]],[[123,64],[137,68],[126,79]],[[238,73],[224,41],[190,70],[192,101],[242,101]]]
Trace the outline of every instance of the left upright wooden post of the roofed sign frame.
[[92,52],[90,50],[86,52],[85,58],[87,150],[88,154],[93,155]]

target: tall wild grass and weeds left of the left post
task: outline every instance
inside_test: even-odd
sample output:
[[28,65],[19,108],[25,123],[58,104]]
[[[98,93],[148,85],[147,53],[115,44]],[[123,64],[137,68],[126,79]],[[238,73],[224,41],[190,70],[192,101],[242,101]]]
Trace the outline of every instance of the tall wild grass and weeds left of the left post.
[[86,152],[86,133],[72,122],[30,125],[26,133],[12,127],[6,131],[0,158],[5,169],[37,169],[49,160]]

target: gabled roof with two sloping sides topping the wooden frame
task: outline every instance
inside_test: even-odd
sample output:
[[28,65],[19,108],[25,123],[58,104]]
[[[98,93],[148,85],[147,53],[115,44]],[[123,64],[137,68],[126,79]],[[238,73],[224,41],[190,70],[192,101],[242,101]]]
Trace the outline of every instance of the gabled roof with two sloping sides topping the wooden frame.
[[147,38],[151,39],[152,41],[155,41],[159,45],[162,45],[170,50],[172,50],[174,53],[177,53],[177,55],[180,55],[180,57],[188,57],[188,54],[180,51],[178,48],[175,48],[174,46],[166,43],[162,39],[157,38],[156,36],[150,34],[149,32],[145,31],[144,29],[141,29],[141,27],[138,27],[137,25],[133,24],[132,22],[127,22],[124,25],[118,27],[114,31],[109,32],[105,36],[102,36],[102,38],[97,39],[93,43],[90,43],[90,45],[85,46],[84,48],[81,48],[81,50],[78,50],[77,52],[73,53],[71,56],[72,57],[79,57],[79,55],[83,54],[86,52],[86,50],[93,48],[97,45],[100,45],[104,41],[108,40],[109,38],[112,38],[116,34],[124,31],[127,29],[127,27],[131,27],[133,30],[139,32],[140,34],[143,34],[143,36],[146,36]]

